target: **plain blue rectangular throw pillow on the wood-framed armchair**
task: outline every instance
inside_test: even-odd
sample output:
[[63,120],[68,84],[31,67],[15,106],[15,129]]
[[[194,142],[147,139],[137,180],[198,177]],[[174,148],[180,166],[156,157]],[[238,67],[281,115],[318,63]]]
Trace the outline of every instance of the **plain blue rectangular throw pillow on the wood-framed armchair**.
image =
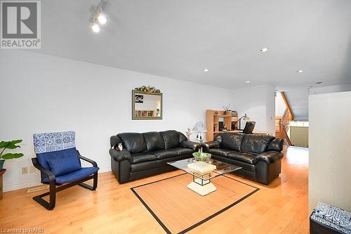
[[48,160],[48,166],[55,176],[62,176],[81,169],[81,164],[77,157],[57,157]]

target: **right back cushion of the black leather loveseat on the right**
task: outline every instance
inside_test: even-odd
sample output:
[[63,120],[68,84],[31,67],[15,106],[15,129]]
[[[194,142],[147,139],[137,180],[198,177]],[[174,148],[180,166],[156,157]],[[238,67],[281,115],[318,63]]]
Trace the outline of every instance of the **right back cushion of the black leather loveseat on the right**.
[[260,154],[265,152],[267,145],[274,139],[274,136],[244,134],[244,139],[241,143],[241,151]]

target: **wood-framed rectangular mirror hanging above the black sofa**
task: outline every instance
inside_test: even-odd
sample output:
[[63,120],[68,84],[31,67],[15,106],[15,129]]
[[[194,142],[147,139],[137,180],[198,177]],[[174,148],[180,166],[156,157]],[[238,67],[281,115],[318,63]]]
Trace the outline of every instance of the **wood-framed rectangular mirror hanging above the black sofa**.
[[132,90],[132,119],[162,119],[162,93]]

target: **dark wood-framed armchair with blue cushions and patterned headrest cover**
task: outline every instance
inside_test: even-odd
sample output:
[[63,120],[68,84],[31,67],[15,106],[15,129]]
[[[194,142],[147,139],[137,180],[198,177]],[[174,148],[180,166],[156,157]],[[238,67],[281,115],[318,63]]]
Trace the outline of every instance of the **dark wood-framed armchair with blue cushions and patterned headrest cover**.
[[[74,131],[49,134],[34,134],[34,167],[41,172],[41,183],[49,184],[50,191],[33,197],[46,209],[55,207],[56,193],[66,188],[79,185],[90,190],[98,186],[98,164],[79,154],[75,145]],[[90,162],[93,167],[81,167],[81,161]],[[84,181],[93,179],[93,186]],[[58,186],[58,187],[56,187]],[[49,202],[42,197],[50,195]]]

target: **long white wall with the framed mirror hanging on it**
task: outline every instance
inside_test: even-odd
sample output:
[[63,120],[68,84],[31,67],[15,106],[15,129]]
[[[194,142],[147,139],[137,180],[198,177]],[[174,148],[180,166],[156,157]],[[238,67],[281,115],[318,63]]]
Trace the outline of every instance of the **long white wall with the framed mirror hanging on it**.
[[[32,165],[34,133],[74,130],[81,154],[110,171],[110,136],[184,132],[204,122],[206,109],[221,109],[232,98],[227,89],[28,51],[1,50],[0,79],[0,140],[23,139],[25,154],[5,162],[4,190],[39,184],[38,173],[21,174],[21,167]],[[164,93],[164,119],[131,119],[131,90],[141,85]]]

